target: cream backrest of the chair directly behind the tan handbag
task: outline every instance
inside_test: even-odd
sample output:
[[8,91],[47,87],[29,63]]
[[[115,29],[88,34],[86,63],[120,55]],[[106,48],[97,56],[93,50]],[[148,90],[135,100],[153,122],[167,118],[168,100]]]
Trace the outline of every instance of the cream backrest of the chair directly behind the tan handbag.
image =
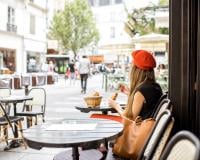
[[163,111],[156,120],[156,124],[151,132],[151,135],[140,152],[138,159],[151,160],[157,146],[159,146],[159,150],[163,150],[173,124],[174,119],[171,116],[171,112],[169,110]]

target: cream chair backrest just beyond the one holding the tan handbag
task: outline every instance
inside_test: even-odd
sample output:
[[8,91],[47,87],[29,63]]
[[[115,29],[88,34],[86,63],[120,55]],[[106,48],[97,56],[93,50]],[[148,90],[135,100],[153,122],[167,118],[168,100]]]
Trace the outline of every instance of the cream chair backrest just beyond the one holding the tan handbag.
[[171,104],[170,99],[168,98],[164,98],[162,99],[162,101],[160,101],[156,111],[154,112],[153,118],[157,120],[159,115],[166,109],[168,109],[169,111],[172,111],[172,104]]

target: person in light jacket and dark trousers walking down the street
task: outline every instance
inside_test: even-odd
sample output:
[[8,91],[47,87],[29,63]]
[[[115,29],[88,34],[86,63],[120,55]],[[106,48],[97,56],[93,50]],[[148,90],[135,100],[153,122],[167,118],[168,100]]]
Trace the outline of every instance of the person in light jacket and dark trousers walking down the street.
[[83,55],[79,62],[79,74],[81,79],[81,93],[86,93],[87,79],[90,73],[90,60],[86,55]]

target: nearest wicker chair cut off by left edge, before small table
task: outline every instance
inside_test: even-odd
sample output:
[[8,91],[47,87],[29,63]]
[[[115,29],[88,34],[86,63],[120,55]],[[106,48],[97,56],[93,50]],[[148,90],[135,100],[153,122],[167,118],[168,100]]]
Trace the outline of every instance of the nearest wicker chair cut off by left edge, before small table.
[[[13,142],[16,140],[22,140],[26,147],[26,143],[23,139],[22,134],[22,121],[24,120],[24,118],[17,116],[9,116],[4,107],[5,106],[2,103],[0,103],[0,140],[5,141],[7,144],[7,147],[4,150],[10,149],[10,147],[16,147],[14,145],[17,143],[9,144],[9,140],[13,140]],[[9,134],[10,131],[11,134]]]

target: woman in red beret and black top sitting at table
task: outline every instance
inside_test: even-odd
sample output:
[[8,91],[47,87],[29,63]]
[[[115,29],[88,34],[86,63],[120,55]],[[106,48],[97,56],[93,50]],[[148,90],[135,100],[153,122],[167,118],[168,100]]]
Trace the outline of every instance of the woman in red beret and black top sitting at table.
[[146,119],[152,116],[156,110],[156,103],[162,95],[162,89],[155,80],[156,61],[153,55],[146,50],[133,51],[132,58],[130,89],[123,89],[123,92],[128,95],[126,109],[121,110],[121,107],[112,99],[109,99],[108,103],[120,115],[131,120],[137,116]]

